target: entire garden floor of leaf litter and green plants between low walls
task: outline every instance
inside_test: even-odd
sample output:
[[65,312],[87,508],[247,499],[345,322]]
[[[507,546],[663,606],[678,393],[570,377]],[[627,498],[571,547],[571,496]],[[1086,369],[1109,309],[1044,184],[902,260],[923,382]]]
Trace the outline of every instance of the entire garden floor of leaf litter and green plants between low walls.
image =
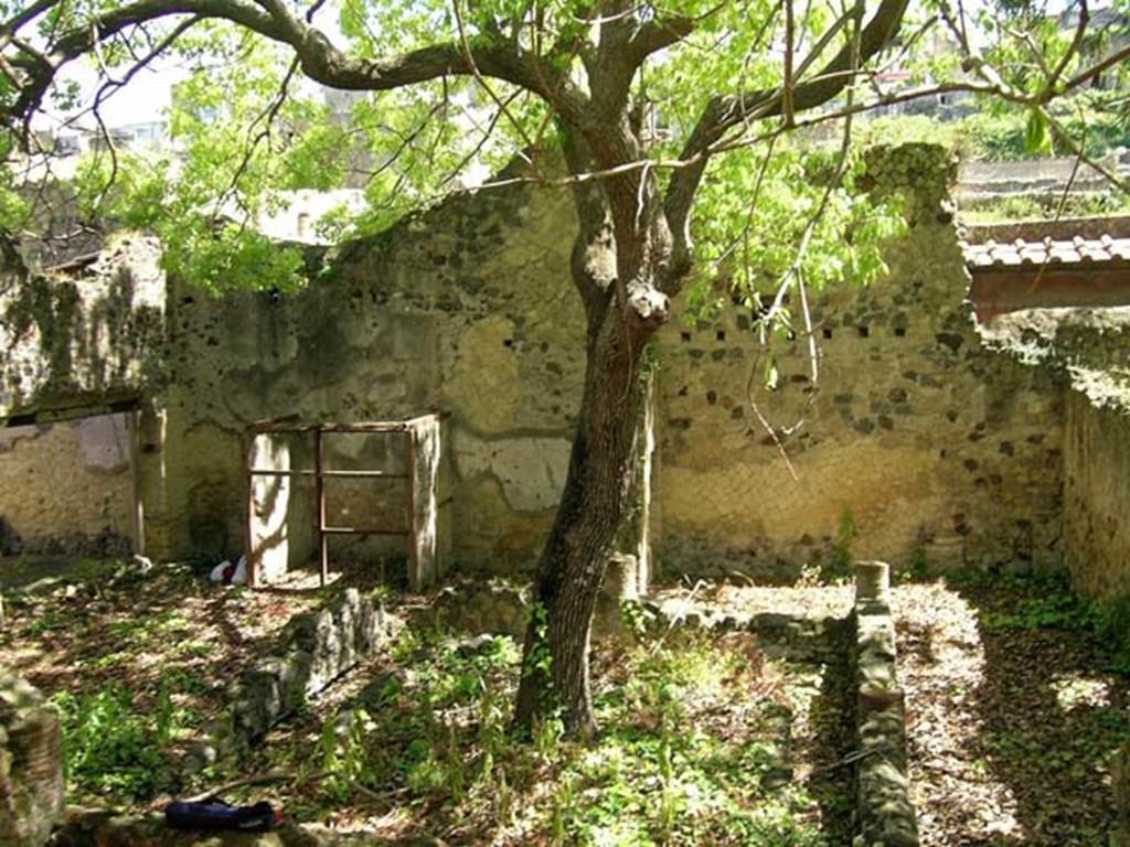
[[[424,622],[429,599],[388,592],[407,621],[386,647],[238,766],[184,754],[228,683],[316,590],[210,585],[80,562],[9,601],[0,664],[64,715],[76,803],[156,809],[266,774],[227,797],[393,841],[827,845],[850,842],[846,664],[755,634],[670,630],[598,647],[605,732],[511,740],[519,649]],[[670,587],[733,612],[840,617],[846,586]],[[950,578],[895,588],[911,776],[925,845],[1102,845],[1106,765],[1128,728],[1127,679],[1084,604],[1054,580]]]

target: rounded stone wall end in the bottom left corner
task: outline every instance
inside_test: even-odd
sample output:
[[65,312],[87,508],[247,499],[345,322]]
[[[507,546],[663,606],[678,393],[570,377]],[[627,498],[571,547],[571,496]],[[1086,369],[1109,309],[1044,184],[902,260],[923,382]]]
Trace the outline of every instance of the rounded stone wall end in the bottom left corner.
[[0,844],[40,847],[63,811],[59,714],[0,669]]

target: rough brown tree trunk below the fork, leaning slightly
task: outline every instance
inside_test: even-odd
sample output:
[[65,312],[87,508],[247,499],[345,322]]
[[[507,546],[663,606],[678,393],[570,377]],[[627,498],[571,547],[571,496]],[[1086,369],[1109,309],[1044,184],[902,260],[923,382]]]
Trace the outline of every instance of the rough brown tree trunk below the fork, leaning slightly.
[[534,613],[525,636],[514,721],[530,728],[559,709],[572,736],[596,733],[589,634],[608,556],[635,478],[649,332],[611,298],[590,322],[584,394],[568,475],[538,564]]

